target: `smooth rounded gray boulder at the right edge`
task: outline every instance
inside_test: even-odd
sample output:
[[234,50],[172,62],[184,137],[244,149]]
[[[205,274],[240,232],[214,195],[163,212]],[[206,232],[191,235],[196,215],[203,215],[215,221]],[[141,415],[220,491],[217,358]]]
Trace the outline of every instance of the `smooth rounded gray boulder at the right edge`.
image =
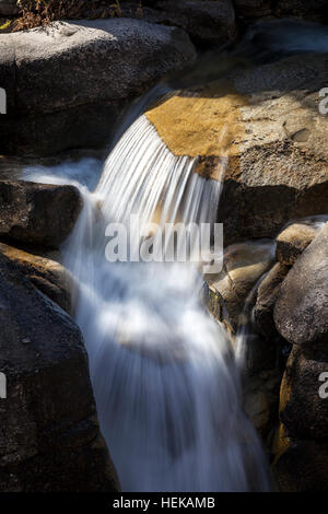
[[296,344],[328,342],[328,224],[296,260],[283,281],[274,322]]

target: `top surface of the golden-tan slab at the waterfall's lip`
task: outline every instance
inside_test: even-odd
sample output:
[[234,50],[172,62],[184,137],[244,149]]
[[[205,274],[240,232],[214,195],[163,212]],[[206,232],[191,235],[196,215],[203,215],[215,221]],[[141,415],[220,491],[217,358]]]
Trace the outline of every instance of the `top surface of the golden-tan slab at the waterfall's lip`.
[[[243,172],[245,152],[278,142],[293,142],[295,150],[314,150],[327,159],[323,148],[328,140],[327,119],[318,116],[318,95],[305,90],[314,86],[313,77],[298,89],[300,59],[309,72],[324,66],[328,56],[296,56],[243,70],[243,74],[231,73],[203,87],[177,91],[145,115],[175,155],[238,156],[239,166],[232,160],[229,176],[237,168]],[[327,75],[321,72],[317,78],[318,89]],[[281,179],[285,172],[286,166],[280,170]],[[215,168],[211,176],[218,178]],[[294,180],[292,173],[284,176],[284,183]]]

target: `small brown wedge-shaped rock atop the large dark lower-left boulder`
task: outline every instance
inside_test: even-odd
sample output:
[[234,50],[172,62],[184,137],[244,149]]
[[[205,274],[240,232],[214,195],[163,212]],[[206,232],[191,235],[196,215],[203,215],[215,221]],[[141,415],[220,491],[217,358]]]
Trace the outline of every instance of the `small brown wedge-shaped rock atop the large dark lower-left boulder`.
[[63,266],[3,243],[0,243],[0,254],[13,261],[17,269],[46,296],[71,313],[71,278]]

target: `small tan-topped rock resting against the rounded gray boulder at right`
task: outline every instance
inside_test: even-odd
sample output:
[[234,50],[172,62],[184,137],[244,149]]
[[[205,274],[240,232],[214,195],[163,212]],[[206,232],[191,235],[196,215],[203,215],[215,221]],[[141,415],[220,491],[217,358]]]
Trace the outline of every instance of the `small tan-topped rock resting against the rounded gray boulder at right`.
[[306,223],[292,223],[277,237],[276,256],[283,266],[293,266],[315,238],[318,229]]

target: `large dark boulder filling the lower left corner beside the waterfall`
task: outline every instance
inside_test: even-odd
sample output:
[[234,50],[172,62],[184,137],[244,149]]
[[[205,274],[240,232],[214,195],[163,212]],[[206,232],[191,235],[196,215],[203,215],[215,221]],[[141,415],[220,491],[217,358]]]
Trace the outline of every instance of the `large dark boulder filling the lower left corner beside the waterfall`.
[[0,490],[117,491],[79,328],[0,255]]

